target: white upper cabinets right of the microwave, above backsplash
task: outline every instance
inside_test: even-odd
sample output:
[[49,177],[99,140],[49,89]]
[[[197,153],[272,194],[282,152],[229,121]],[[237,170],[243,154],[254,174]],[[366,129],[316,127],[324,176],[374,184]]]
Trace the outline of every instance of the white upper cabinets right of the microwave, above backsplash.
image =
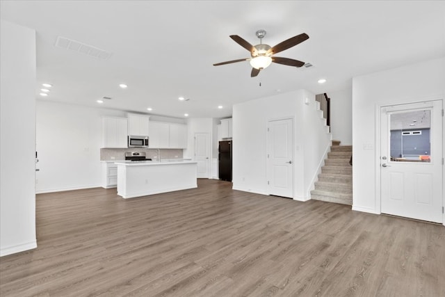
[[150,122],[149,148],[187,148],[187,125]]

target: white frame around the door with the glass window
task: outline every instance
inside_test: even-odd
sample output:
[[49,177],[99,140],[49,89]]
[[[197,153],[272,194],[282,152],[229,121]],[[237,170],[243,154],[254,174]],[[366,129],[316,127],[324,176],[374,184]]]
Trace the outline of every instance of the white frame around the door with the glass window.
[[[382,214],[382,185],[380,183],[381,172],[380,172],[380,146],[381,146],[381,109],[383,107],[389,106],[398,106],[405,104],[416,104],[422,102],[430,102],[430,101],[442,101],[442,160],[445,159],[444,149],[445,149],[445,120],[444,120],[444,109],[445,109],[445,99],[443,96],[432,96],[432,97],[423,97],[423,99],[416,99],[415,101],[404,101],[404,102],[395,102],[394,104],[385,103],[385,104],[375,104],[375,209],[378,211],[377,214]],[[445,177],[445,165],[444,161],[442,161],[442,179]],[[445,183],[442,182],[442,209],[445,207]],[[442,225],[445,226],[445,211],[442,211]]]

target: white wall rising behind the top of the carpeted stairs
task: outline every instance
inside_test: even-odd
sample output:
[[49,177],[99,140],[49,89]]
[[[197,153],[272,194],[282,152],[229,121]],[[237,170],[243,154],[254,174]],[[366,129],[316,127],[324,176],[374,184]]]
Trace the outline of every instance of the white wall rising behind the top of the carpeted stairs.
[[341,145],[353,144],[353,90],[348,88],[327,93],[330,97],[332,139]]

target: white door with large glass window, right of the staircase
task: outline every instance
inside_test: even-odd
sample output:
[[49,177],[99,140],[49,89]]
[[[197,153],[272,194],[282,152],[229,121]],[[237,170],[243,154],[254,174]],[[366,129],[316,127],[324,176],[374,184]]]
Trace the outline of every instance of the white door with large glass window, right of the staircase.
[[381,108],[381,212],[442,223],[442,101]]

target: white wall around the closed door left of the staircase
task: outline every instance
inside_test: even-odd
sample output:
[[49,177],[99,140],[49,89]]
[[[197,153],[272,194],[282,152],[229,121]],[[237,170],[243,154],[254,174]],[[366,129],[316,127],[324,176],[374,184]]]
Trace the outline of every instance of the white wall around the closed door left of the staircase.
[[321,111],[316,109],[315,96],[305,90],[234,105],[233,188],[268,194],[267,123],[282,118],[293,118],[294,123],[293,198],[308,200],[311,183],[330,145],[330,134]]

